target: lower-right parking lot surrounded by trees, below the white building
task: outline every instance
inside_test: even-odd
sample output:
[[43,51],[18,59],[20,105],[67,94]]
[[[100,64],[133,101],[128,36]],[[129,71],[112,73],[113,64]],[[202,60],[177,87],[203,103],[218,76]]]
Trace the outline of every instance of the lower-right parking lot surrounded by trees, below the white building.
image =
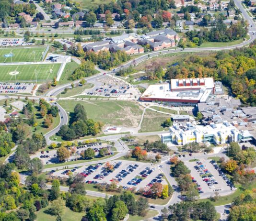
[[191,170],[192,181],[198,185],[200,194],[218,192],[221,195],[231,190],[213,163],[217,165],[212,160],[185,161],[186,166]]

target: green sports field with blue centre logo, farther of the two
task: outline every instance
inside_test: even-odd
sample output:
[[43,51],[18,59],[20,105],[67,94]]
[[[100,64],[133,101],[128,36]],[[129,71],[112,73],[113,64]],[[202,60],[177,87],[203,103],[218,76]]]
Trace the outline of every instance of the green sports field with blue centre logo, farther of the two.
[[0,49],[0,63],[42,61],[45,50],[46,47],[3,48]]

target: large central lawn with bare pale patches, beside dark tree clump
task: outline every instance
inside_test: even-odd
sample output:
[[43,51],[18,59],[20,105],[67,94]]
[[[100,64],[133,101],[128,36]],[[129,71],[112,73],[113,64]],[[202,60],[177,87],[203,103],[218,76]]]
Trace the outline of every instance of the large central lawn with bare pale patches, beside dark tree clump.
[[58,103],[72,113],[76,104],[84,106],[87,117],[105,125],[136,127],[139,125],[142,108],[130,101],[121,100],[59,100]]

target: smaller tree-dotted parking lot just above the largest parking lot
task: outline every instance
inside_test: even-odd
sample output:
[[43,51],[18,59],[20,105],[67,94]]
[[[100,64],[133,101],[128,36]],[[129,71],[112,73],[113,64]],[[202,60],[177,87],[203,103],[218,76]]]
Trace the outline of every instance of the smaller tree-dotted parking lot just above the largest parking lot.
[[[108,146],[107,144],[101,144],[101,143],[96,143],[96,144],[84,144],[81,146],[77,146],[75,148],[70,147],[70,152],[72,150],[73,154],[70,154],[70,158],[67,161],[76,161],[81,158],[81,152],[88,149],[92,148],[95,151],[95,156],[98,155],[98,152],[101,148],[107,147],[108,148],[108,153],[109,155],[113,155],[114,153],[111,151],[111,147]],[[42,160],[43,164],[54,164],[54,163],[59,163],[58,158],[57,158],[57,150],[47,150],[47,151],[41,151],[37,152],[35,155],[31,155],[31,158],[38,157]]]

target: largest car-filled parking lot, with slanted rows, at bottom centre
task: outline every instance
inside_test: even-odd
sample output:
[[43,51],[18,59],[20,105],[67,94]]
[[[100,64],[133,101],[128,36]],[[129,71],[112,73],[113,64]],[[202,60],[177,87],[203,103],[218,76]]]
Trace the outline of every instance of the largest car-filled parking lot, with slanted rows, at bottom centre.
[[[126,188],[145,188],[151,187],[153,183],[159,182],[167,184],[167,181],[161,175],[161,170],[156,166],[152,167],[148,163],[133,162],[127,160],[115,160],[110,161],[110,165],[113,165],[113,170],[107,170],[105,164],[97,164],[91,166],[82,166],[74,171],[74,173],[80,173],[84,176],[84,181],[87,183],[111,183],[115,181],[117,185]],[[67,170],[66,170],[67,171]],[[150,173],[148,173],[151,171]],[[68,172],[65,170],[59,170],[52,174],[52,176],[68,177]],[[142,175],[144,175],[142,177]],[[138,180],[141,181],[138,182]],[[90,182],[89,182],[90,181]]]

